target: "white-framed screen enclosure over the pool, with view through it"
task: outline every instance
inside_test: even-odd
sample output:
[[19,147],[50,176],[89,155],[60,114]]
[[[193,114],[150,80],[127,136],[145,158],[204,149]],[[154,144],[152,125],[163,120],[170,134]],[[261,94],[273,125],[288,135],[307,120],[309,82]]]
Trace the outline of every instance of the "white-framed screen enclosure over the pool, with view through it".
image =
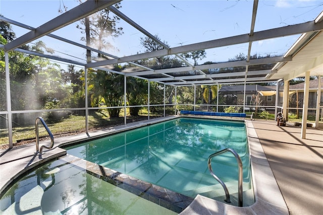
[[318,124],[321,81],[309,81],[323,73],[323,4],[282,4],[1,1],[1,142],[12,148],[39,116],[58,134],[180,110],[288,116],[298,77],[295,108]]

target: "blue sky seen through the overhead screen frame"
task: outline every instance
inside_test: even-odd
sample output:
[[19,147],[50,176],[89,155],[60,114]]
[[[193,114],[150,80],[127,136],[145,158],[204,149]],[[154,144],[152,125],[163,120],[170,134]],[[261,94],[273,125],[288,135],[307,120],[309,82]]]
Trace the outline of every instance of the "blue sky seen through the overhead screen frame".
[[[79,5],[78,0],[57,1],[13,1],[1,0],[0,13],[6,18],[38,27],[59,16],[64,11]],[[170,47],[188,45],[250,32],[253,1],[122,1],[120,11],[137,22],[151,34],[157,34]],[[278,28],[314,20],[323,10],[323,1],[259,1],[255,31]],[[53,34],[84,44],[82,34],[73,23]],[[116,56],[126,56],[143,52],[139,39],[144,35],[124,21],[119,26],[124,34],[110,38],[112,46],[105,50]],[[17,36],[28,31],[13,28]],[[282,55],[300,35],[255,42],[252,54]],[[42,37],[48,47],[55,49],[56,55],[69,59],[84,58],[85,50],[75,48],[48,37]],[[239,53],[247,54],[248,44],[207,50],[205,61],[221,62]],[[75,57],[71,57],[75,56]]]

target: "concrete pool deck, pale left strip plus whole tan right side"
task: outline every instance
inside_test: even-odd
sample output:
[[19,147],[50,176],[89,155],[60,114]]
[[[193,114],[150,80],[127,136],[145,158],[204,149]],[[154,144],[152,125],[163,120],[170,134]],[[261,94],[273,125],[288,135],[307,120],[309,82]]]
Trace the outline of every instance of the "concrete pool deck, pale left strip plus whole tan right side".
[[[149,123],[160,120],[150,120]],[[1,191],[17,178],[17,173],[26,172],[39,162],[65,155],[65,150],[57,147],[64,142],[143,124],[132,123],[88,134],[57,138],[55,149],[45,151],[42,158],[34,154],[35,144],[2,150]],[[182,214],[319,214],[323,210],[322,130],[308,128],[307,139],[300,139],[300,127],[279,127],[276,122],[249,120],[246,125],[253,162],[252,171],[257,177],[253,179],[256,203],[241,208],[198,196]]]

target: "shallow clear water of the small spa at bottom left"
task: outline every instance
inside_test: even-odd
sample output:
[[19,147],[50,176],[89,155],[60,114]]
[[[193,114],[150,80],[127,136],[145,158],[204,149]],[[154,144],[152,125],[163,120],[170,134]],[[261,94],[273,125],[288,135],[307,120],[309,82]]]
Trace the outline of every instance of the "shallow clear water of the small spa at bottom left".
[[177,214],[63,160],[20,179],[0,205],[1,214]]

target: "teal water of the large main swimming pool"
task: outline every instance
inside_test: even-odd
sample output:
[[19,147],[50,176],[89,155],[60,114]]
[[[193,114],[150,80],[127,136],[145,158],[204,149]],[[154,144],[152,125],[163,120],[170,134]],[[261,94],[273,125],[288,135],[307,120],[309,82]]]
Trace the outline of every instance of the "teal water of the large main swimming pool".
[[[192,198],[200,194],[223,201],[223,188],[210,175],[207,159],[226,148],[234,149],[241,157],[244,190],[250,190],[244,121],[181,117],[65,149],[75,157]],[[238,167],[234,156],[227,153],[215,157],[212,167],[230,193],[237,193]]]

